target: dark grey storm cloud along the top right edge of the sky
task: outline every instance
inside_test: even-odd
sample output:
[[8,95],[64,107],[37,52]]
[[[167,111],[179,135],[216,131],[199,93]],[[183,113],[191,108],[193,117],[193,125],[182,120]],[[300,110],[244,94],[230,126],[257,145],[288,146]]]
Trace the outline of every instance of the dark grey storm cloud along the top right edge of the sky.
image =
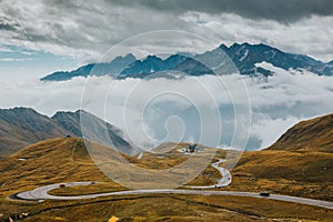
[[312,14],[332,16],[332,0],[110,0],[122,6],[143,6],[175,13],[200,11],[206,13],[236,13],[251,19],[271,19],[281,22],[299,20]]

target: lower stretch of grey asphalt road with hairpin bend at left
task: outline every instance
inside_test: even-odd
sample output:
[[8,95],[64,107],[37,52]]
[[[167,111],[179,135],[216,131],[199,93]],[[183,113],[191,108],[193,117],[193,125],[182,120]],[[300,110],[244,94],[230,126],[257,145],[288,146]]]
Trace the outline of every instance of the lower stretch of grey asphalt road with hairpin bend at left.
[[[71,182],[64,183],[67,186],[74,186],[74,185],[89,185],[93,182]],[[278,200],[278,201],[285,201],[285,202],[293,202],[293,203],[301,203],[314,206],[321,206],[326,209],[333,209],[333,202],[329,201],[321,201],[321,200],[313,200],[313,199],[305,199],[305,198],[296,198],[290,195],[276,195],[271,194],[270,196],[261,196],[259,193],[253,192],[239,192],[239,191],[202,191],[202,190],[132,190],[132,191],[117,191],[110,193],[99,193],[99,194],[87,194],[87,195],[74,195],[74,196],[58,196],[51,195],[48,192],[54,189],[58,189],[58,184],[51,184],[41,186],[31,191],[26,191],[22,193],[16,194],[17,199],[21,200],[80,200],[80,199],[92,199],[92,198],[100,198],[100,196],[115,196],[115,195],[133,195],[133,194],[152,194],[152,193],[170,193],[170,194],[193,194],[193,195],[234,195],[234,196],[249,196],[249,198],[256,198],[256,199],[270,199],[270,200]]]

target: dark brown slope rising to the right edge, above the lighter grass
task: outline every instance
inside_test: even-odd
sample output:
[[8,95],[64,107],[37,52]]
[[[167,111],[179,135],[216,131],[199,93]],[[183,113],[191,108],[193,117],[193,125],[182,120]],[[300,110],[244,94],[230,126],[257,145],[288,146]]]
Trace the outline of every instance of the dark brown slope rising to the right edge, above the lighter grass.
[[332,153],[333,114],[295,124],[268,150],[314,150]]

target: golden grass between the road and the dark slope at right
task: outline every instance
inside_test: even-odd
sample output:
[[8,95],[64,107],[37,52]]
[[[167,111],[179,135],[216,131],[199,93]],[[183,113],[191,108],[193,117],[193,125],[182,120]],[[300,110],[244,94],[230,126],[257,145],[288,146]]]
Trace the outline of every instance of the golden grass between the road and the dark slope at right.
[[246,152],[232,171],[228,190],[270,191],[333,201],[333,154],[323,152]]

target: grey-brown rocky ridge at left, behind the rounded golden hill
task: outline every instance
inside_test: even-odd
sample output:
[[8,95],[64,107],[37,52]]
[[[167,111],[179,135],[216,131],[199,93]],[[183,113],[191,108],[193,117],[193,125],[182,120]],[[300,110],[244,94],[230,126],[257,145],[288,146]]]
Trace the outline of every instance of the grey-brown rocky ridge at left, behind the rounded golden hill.
[[[81,121],[84,122],[83,129]],[[103,143],[104,128],[117,149],[128,154],[135,152],[122,138],[121,130],[83,110],[60,111],[49,118],[31,108],[3,109],[0,110],[0,155],[9,155],[29,144],[51,138],[81,138],[82,131],[83,135],[89,135],[89,140]]]

